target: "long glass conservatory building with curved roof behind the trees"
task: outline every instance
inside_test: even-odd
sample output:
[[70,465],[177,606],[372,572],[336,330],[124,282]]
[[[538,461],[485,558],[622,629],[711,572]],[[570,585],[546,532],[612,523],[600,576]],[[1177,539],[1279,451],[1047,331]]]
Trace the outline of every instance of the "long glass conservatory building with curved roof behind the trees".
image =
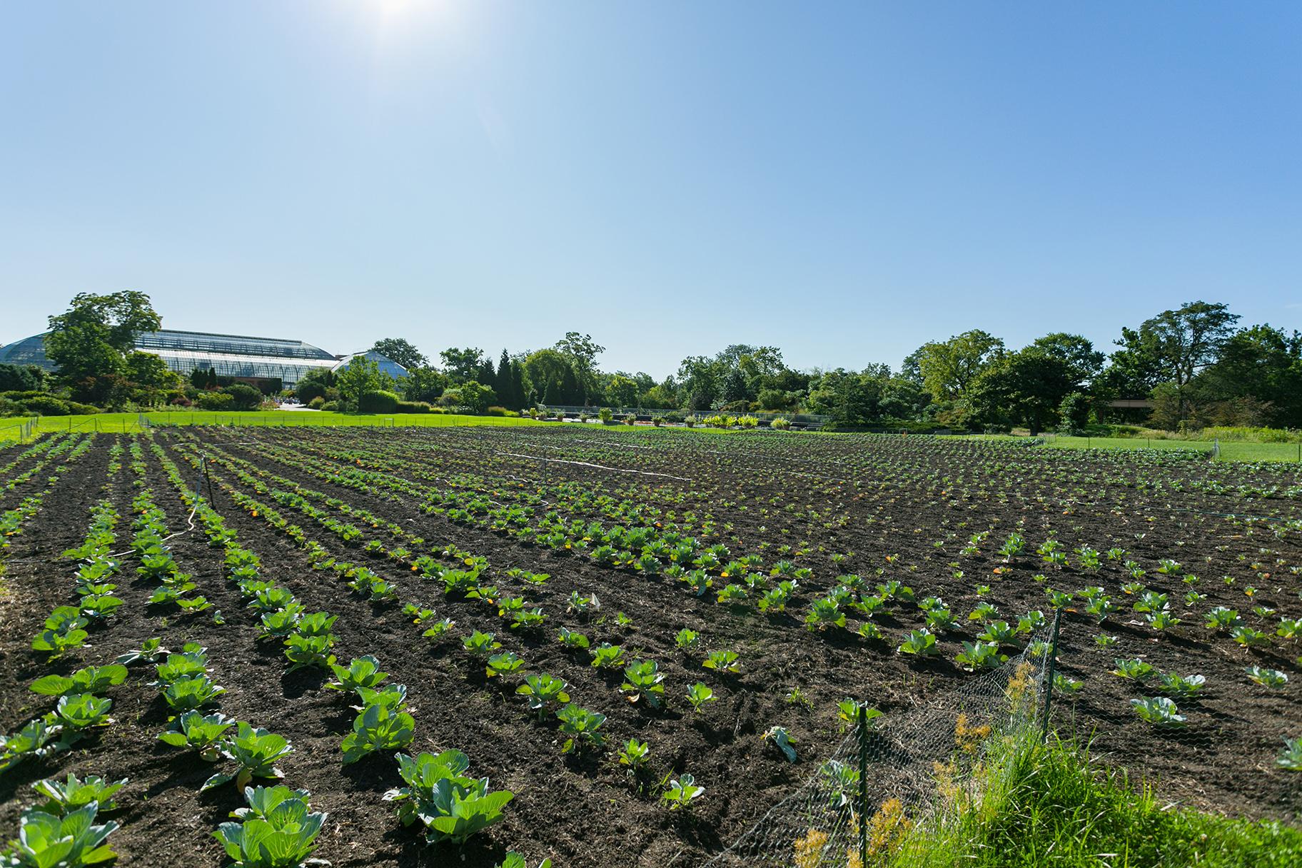
[[[311,344],[275,337],[242,337],[164,329],[145,332],[135,338],[135,349],[152,353],[181,376],[195,368],[212,368],[217,376],[238,380],[280,380],[292,389],[312,368],[333,368],[339,359]],[[46,336],[0,346],[0,363],[36,364],[53,371],[46,358]]]

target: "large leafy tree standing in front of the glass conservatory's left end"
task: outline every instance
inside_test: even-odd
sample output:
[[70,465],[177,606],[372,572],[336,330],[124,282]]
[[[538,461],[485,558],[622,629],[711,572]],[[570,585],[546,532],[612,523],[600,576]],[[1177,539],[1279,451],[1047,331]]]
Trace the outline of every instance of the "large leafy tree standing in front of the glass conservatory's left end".
[[81,293],[66,311],[49,318],[46,355],[55,363],[56,380],[74,400],[99,401],[111,379],[121,377],[135,336],[155,332],[161,324],[145,293]]

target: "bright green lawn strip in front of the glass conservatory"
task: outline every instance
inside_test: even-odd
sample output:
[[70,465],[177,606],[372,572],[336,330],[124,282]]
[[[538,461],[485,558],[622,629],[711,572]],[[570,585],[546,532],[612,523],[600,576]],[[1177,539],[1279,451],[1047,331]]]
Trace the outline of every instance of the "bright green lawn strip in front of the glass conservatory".
[[[415,426],[441,428],[447,426],[540,426],[533,419],[508,416],[458,416],[441,413],[352,415],[344,413],[266,410],[254,413],[212,413],[210,410],[146,413],[152,424],[180,426]],[[141,429],[141,414],[100,413],[90,416],[42,416],[38,433],[51,431],[109,431],[130,432]],[[0,420],[0,442],[18,437],[22,419]]]

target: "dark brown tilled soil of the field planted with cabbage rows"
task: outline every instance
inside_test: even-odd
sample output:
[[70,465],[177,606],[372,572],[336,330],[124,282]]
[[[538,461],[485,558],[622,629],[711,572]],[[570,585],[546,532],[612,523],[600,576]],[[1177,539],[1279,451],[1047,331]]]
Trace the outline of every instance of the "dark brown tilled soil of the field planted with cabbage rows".
[[[1144,777],[1173,802],[1288,821],[1302,813],[1302,774],[1275,765],[1282,739],[1302,735],[1302,647],[1275,635],[1280,618],[1302,617],[1302,475],[1286,465],[927,437],[557,426],[160,429],[135,439],[143,446],[139,467],[111,474],[111,446],[130,441],[96,436],[10,537],[0,599],[0,726],[12,733],[48,711],[51,700],[27,691],[44,674],[111,662],[151,636],[172,648],[198,642],[227,688],[220,711],[293,743],[279,765],[286,783],[311,791],[314,809],[329,813],[315,855],[336,867],[478,868],[508,850],[530,865],[551,856],[557,868],[699,865],[818,770],[842,738],[840,700],[867,700],[884,712],[887,727],[902,725],[976,677],[954,655],[984,629],[967,617],[979,603],[1016,625],[1031,610],[1052,617],[1047,588],[1087,586],[1105,588],[1118,608],[1099,625],[1079,597],[1066,604],[1059,666],[1082,687],[1055,695],[1059,731],[1088,739],[1094,755]],[[0,450],[0,466],[21,450]],[[33,461],[18,461],[7,478]],[[186,488],[202,492],[240,545],[260,556],[263,578],[289,588],[307,612],[339,616],[341,662],[374,655],[391,682],[406,685],[417,724],[408,752],[460,748],[471,773],[516,794],[501,824],[460,852],[428,847],[381,799],[401,783],[391,755],[341,764],[340,740],[354,717],[349,703],[323,687],[328,675],[318,670],[286,673],[280,644],[258,639],[258,621],[227,578],[223,550],[201,526],[190,528],[169,466]],[[0,509],[46,484],[46,474],[36,474],[5,492]],[[141,491],[152,492],[165,511],[169,531],[178,534],[168,540],[177,563],[223,612],[223,625],[214,623],[212,610],[181,616],[147,605],[156,586],[135,579],[126,545]],[[82,541],[100,500],[122,515],[117,548],[126,553],[116,593],[125,603],[92,630],[89,648],[48,664],[31,651],[31,638],[55,606],[76,601],[76,565],[60,553]],[[277,517],[297,534],[277,527]],[[359,534],[341,535],[340,522]],[[702,567],[712,587],[697,596],[664,569],[667,557],[655,569],[595,557],[602,540],[594,532],[616,526],[646,528],[646,540],[691,537],[698,552],[723,545],[728,553]],[[1004,557],[999,549],[1014,531],[1027,545]],[[1047,539],[1061,543],[1065,563],[1036,553]],[[397,599],[372,603],[335,571],[314,569],[307,543],[388,579]],[[496,605],[447,595],[441,580],[417,570],[419,556],[443,558],[449,547],[486,558],[483,580],[497,586],[500,597],[523,596],[540,606],[544,626],[513,630]],[[1087,548],[1125,556],[1090,566],[1078,553]],[[738,582],[723,575],[727,565],[743,556],[755,556],[759,566],[750,569],[766,576],[775,569],[810,571],[784,613],[762,613],[754,591],[716,601]],[[1135,579],[1124,561],[1142,567],[1147,590],[1169,595],[1178,625],[1155,630],[1131,609],[1137,595],[1122,586]],[[1181,566],[1159,573],[1163,561]],[[549,579],[529,584],[519,571]],[[862,576],[865,596],[898,580],[917,601],[941,597],[958,629],[939,636],[940,656],[919,661],[896,651],[905,632],[924,623],[918,605],[902,599],[872,616],[880,640],[858,635],[868,618],[852,609],[845,627],[806,629],[814,600],[852,574]],[[767,580],[771,587],[779,576]],[[1186,600],[1190,591],[1202,596]],[[572,610],[574,592],[595,596],[598,605]],[[437,640],[422,638],[423,629],[404,614],[408,603],[434,609],[454,627]],[[1243,648],[1208,630],[1204,616],[1213,606],[1236,609],[1268,642]],[[592,647],[621,645],[630,661],[658,661],[665,707],[629,701],[622,669],[590,665],[587,651],[557,642],[561,627],[586,634]],[[703,651],[676,647],[684,629],[700,635]],[[461,638],[473,630],[493,632],[503,649],[526,661],[525,671],[562,678],[574,703],[607,714],[605,746],[562,755],[555,716],[538,720],[516,695],[522,678],[486,678],[483,662],[462,649]],[[1098,634],[1117,640],[1101,647]],[[719,649],[740,655],[738,674],[702,668],[703,653]],[[1156,694],[1112,675],[1118,657],[1204,675],[1198,699],[1177,698],[1187,725],[1167,730],[1139,720],[1129,700]],[[1262,687],[1245,673],[1251,665],[1280,670],[1289,682]],[[199,794],[214,769],[156,739],[169,712],[147,686],[151,678],[151,668],[137,666],[108,692],[115,722],[98,735],[0,774],[7,835],[33,802],[33,781],[69,772],[126,777],[113,817],[122,824],[112,837],[120,864],[224,864],[211,832],[240,807],[240,795],[233,786]],[[695,682],[717,698],[700,712],[684,698]],[[793,737],[797,763],[760,738],[775,725]],[[615,759],[630,738],[651,748],[650,772],[637,780]],[[661,781],[684,772],[706,793],[690,809],[667,811],[659,803]]]

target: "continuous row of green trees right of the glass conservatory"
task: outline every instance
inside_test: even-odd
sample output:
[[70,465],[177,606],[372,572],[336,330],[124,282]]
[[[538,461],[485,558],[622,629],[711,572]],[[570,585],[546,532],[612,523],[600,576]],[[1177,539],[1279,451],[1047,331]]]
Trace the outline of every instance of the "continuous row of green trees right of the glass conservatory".
[[[496,367],[479,347],[447,349],[441,366],[404,338],[378,341],[374,349],[410,371],[398,389],[415,401],[447,402],[449,389],[473,383],[492,389],[491,398],[509,409],[803,411],[845,427],[1302,427],[1302,334],[1268,324],[1240,328],[1240,319],[1226,305],[1189,302],[1124,327],[1111,353],[1066,332],[1014,350],[973,329],[923,344],[897,370],[798,371],[779,347],[736,344],[687,357],[663,380],[602,371],[596,359],[604,347],[578,332],[543,350],[503,350]],[[1120,398],[1130,406],[1117,406]]]

